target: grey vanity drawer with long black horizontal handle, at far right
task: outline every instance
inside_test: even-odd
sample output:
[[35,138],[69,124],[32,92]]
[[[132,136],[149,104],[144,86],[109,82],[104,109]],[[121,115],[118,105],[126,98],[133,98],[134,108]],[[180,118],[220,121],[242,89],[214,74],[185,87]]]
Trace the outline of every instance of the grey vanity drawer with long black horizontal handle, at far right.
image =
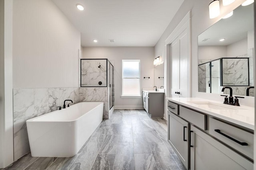
[[253,159],[254,135],[214,118],[210,118],[210,135]]

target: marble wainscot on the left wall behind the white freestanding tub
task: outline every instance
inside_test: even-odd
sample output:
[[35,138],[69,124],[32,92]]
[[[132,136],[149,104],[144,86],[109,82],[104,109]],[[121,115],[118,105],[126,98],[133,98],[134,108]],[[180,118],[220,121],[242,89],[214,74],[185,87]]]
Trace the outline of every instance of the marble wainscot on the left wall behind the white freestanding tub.
[[63,106],[66,99],[79,101],[79,88],[30,88],[13,89],[14,160],[28,151],[26,120]]

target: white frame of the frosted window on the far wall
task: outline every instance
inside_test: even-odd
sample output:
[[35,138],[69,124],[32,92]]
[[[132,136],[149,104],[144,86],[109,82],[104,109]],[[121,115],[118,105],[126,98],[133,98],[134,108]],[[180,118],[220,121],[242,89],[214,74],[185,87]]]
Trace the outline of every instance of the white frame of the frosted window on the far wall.
[[[138,95],[124,95],[124,62],[139,62],[139,94]],[[140,60],[122,60],[122,96],[121,98],[141,98],[141,90],[140,90]],[[135,78],[135,77],[134,77]]]

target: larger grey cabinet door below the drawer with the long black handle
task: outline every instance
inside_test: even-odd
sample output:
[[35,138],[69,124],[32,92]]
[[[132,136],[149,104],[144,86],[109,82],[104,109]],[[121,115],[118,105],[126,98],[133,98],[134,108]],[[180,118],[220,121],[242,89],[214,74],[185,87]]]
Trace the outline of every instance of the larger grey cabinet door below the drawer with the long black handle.
[[253,163],[191,126],[191,170],[252,170]]

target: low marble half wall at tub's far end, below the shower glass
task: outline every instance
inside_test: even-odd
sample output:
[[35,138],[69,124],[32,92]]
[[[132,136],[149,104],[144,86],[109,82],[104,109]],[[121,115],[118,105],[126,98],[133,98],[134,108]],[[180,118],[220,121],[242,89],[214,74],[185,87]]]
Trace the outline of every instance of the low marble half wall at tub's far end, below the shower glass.
[[103,119],[109,114],[109,88],[108,87],[81,87],[79,88],[79,102],[104,102]]

